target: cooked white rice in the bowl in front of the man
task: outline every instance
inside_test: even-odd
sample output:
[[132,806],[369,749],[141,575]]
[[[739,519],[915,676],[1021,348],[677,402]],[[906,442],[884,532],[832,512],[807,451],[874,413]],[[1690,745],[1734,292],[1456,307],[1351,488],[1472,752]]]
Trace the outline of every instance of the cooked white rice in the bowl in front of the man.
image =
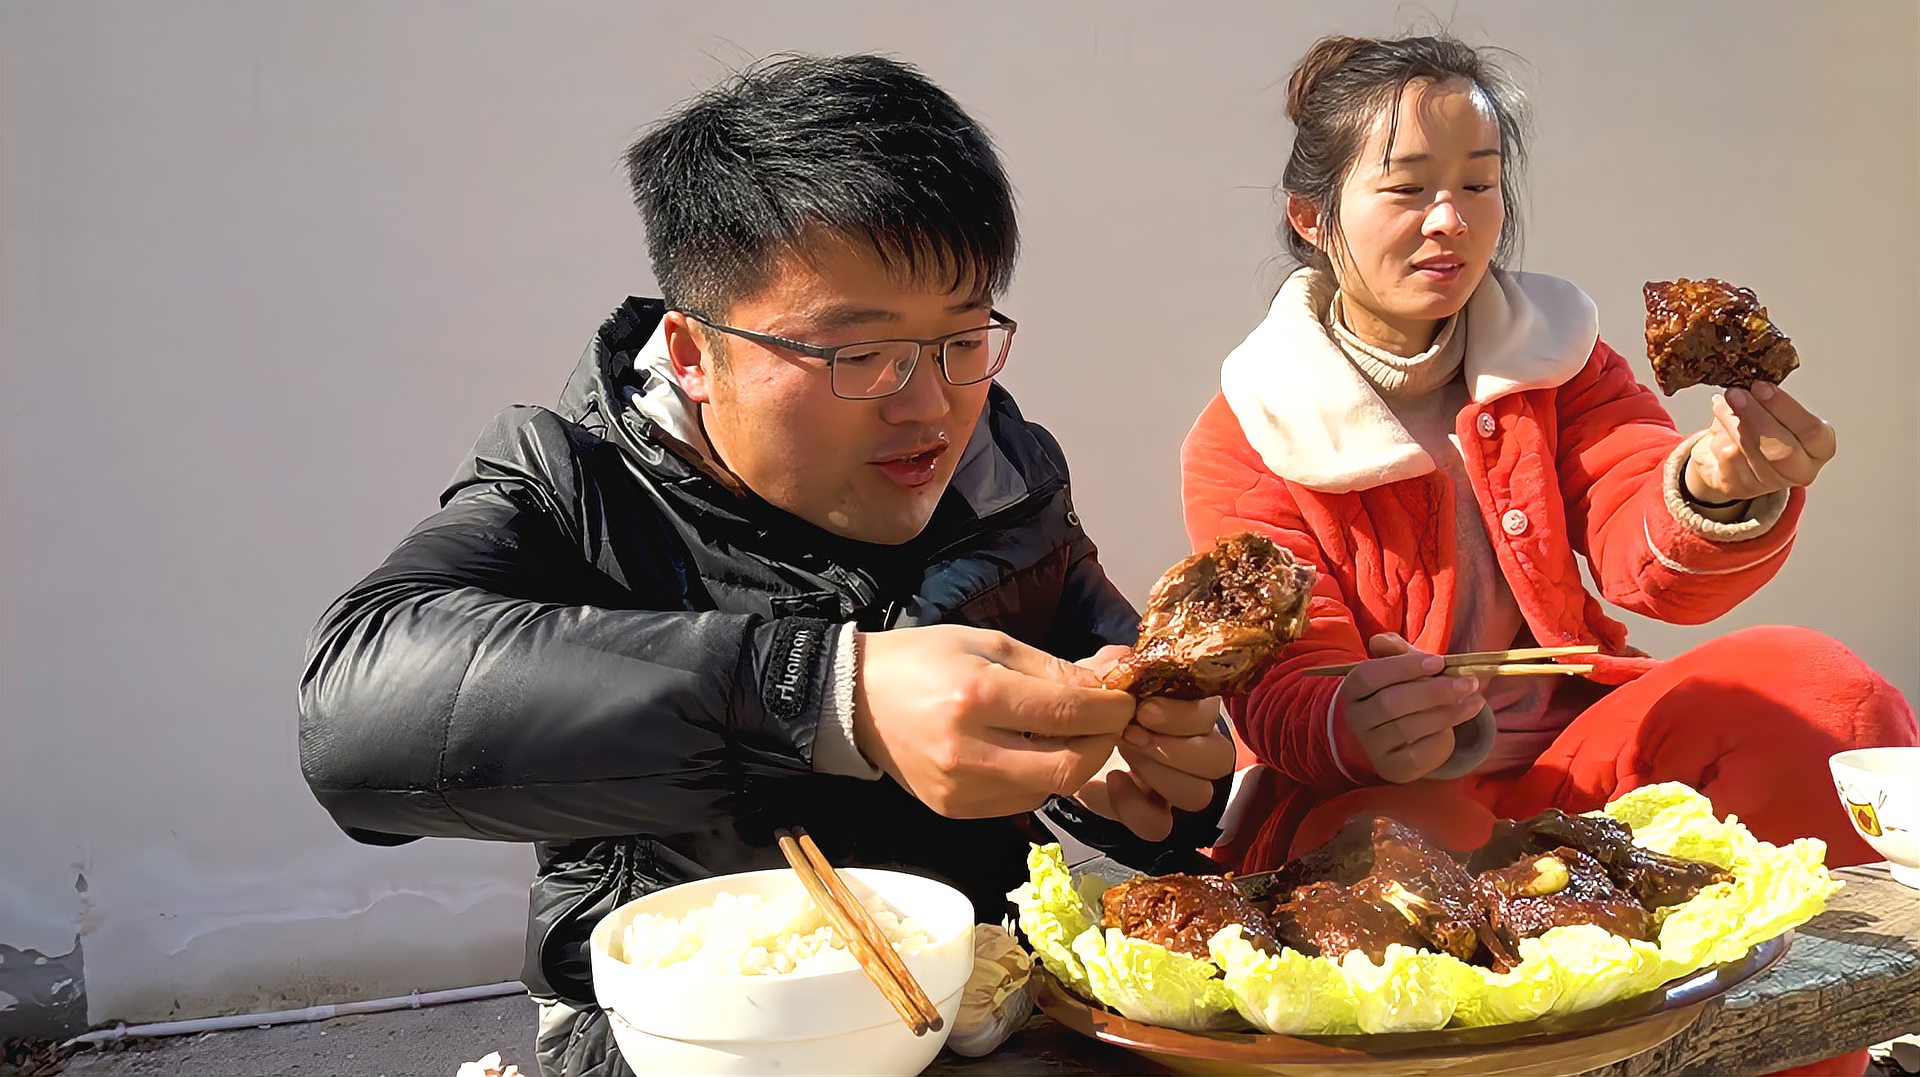
[[[860,904],[902,956],[933,945],[933,935],[870,889],[847,879]],[[858,968],[847,943],[804,893],[780,897],[720,893],[685,916],[636,916],[626,925],[622,958],[639,968],[676,968],[707,975],[787,975]]]

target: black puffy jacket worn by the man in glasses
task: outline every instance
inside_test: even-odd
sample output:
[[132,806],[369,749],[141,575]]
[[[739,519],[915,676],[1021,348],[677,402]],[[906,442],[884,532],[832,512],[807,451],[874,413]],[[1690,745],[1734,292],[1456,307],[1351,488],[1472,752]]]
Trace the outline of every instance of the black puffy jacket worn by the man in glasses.
[[[816,774],[837,626],[995,628],[1062,658],[1137,614],[1079,526],[1060,445],[995,388],[927,530],[835,538],[726,478],[628,299],[561,411],[493,419],[442,509],[326,610],[300,695],[315,797],[353,837],[538,843],[526,983],[591,1004],[586,939],[655,887],[783,864],[803,826],[841,864],[945,877],[998,918],[1033,816],[948,820],[891,779]],[[1210,814],[1140,847],[1206,845]],[[1175,852],[1177,856],[1177,852]]]

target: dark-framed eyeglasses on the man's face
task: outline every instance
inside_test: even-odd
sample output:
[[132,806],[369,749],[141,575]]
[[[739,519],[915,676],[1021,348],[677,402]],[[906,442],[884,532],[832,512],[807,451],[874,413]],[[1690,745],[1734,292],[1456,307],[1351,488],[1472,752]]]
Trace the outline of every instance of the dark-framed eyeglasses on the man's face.
[[920,365],[920,355],[927,347],[933,349],[935,363],[939,363],[947,384],[972,386],[985,382],[1006,367],[1006,353],[1014,346],[1014,330],[1020,328],[1014,319],[1000,311],[987,311],[987,317],[993,319],[991,324],[948,332],[933,340],[866,340],[822,347],[804,340],[787,340],[770,332],[722,324],[693,311],[680,313],[716,332],[826,359],[828,384],[833,386],[833,395],[841,399],[877,399],[900,392],[906,388],[906,380],[914,376],[914,367]]

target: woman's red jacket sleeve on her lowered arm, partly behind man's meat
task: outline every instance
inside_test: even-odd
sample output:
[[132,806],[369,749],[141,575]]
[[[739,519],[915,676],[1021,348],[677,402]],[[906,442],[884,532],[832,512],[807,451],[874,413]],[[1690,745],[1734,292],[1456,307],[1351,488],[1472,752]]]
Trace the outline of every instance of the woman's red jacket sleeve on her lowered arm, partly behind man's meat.
[[[1181,497],[1194,549],[1233,532],[1261,532],[1306,564],[1329,562],[1286,484],[1246,443],[1225,397],[1213,397],[1181,447]],[[1348,597],[1329,572],[1313,584],[1308,620],[1308,632],[1227,701],[1227,714],[1240,743],[1294,783],[1317,789],[1377,783],[1365,753],[1332,710],[1340,680],[1304,676],[1315,666],[1367,658]]]

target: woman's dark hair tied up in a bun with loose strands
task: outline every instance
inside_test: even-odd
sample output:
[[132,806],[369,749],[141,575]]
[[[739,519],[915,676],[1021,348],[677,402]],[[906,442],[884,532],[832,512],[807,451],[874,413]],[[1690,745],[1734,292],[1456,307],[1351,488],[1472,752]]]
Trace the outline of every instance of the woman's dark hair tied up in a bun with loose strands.
[[[1400,132],[1400,98],[1409,83],[1471,83],[1500,125],[1500,202],[1507,221],[1494,248],[1494,265],[1509,265],[1521,250],[1519,190],[1526,163],[1526,111],[1519,88],[1494,65],[1488,50],[1452,36],[1323,36],[1286,79],[1286,119],[1294,150],[1281,188],[1321,211],[1327,236],[1340,240],[1340,184],[1359,157],[1377,117],[1388,117],[1386,156]],[[1384,161],[1382,161],[1384,163]],[[1329,269],[1325,251],[1290,225],[1286,250],[1302,263]]]

